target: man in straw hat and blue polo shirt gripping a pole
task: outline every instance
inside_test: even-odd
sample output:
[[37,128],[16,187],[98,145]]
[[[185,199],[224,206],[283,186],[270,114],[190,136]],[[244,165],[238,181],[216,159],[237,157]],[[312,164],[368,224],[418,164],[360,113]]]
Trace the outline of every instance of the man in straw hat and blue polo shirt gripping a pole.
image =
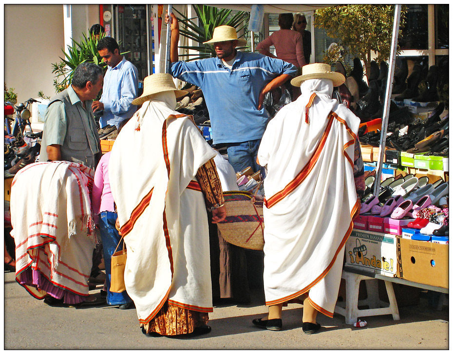
[[[173,14],[171,18],[170,74],[202,89],[213,144],[227,146],[234,170],[250,166],[258,171],[256,154],[269,120],[264,96],[295,76],[297,68],[281,59],[237,51],[245,40],[237,39],[230,26],[216,27],[206,42],[214,46],[216,58],[178,61],[179,25]],[[168,22],[168,15],[166,19]]]

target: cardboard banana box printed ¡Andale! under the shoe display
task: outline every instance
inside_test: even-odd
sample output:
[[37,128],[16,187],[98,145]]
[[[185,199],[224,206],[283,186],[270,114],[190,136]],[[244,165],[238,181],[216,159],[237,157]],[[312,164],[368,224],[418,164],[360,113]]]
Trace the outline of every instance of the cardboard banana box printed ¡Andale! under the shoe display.
[[396,276],[396,237],[393,235],[353,230],[345,244],[345,255],[348,267]]

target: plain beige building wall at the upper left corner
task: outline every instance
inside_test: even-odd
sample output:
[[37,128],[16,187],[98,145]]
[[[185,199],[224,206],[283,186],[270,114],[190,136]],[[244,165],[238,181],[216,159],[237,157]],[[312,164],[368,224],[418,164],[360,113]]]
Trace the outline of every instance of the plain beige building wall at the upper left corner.
[[63,5],[4,5],[4,81],[18,102],[55,94],[52,63],[63,43]]

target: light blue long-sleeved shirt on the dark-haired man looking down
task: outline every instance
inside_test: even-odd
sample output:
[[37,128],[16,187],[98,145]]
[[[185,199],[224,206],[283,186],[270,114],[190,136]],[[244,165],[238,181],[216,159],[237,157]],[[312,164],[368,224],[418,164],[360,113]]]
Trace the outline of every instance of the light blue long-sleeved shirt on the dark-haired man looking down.
[[104,76],[99,100],[104,104],[104,114],[99,120],[101,127],[114,124],[118,128],[121,121],[131,118],[137,110],[137,106],[132,105],[137,93],[138,70],[123,56],[114,68],[108,67]]

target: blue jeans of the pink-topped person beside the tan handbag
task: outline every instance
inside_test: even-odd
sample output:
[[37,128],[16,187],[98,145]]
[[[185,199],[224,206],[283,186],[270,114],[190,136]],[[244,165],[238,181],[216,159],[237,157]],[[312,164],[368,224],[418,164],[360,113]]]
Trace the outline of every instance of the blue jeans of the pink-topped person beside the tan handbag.
[[[111,258],[121,239],[121,236],[119,236],[118,231],[115,228],[116,217],[117,214],[112,211],[103,211],[99,214],[99,230],[101,233],[102,248],[104,250],[107,303],[109,305],[123,305],[132,302],[132,299],[128,296],[126,291],[123,291],[122,293],[113,293],[110,291],[110,280],[112,279]],[[122,247],[123,241],[118,246],[118,250],[122,249]]]

